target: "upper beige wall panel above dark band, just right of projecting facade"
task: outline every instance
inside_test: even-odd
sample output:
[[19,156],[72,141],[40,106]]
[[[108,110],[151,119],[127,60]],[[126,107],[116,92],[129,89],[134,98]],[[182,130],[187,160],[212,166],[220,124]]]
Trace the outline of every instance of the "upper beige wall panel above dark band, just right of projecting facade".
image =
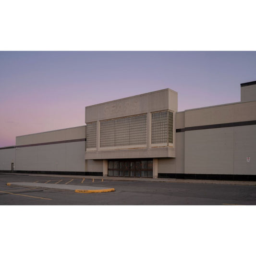
[[185,127],[234,122],[234,104],[185,111]]

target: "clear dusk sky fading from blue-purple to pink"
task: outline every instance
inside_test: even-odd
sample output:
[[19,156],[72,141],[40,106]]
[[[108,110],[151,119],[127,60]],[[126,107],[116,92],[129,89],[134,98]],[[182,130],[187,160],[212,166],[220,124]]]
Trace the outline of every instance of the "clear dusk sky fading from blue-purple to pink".
[[1,51],[0,147],[15,136],[85,124],[85,106],[178,92],[178,110],[240,101],[256,51]]

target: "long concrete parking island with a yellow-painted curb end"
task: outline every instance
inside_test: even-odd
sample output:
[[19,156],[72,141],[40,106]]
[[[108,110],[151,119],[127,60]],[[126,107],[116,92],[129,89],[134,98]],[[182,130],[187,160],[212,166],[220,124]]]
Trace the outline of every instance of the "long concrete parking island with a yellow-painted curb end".
[[93,186],[85,186],[85,185],[66,185],[66,184],[64,185],[64,184],[52,184],[52,183],[13,182],[13,183],[7,183],[6,185],[13,186],[13,187],[71,191],[75,193],[105,193],[105,192],[115,191],[114,188],[93,187]]

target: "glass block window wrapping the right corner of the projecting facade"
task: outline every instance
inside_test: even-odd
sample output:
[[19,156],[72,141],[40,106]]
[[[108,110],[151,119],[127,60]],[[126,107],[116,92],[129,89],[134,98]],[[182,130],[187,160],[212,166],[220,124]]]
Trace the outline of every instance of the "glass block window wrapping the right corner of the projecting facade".
[[173,113],[162,111],[152,113],[151,143],[173,143]]

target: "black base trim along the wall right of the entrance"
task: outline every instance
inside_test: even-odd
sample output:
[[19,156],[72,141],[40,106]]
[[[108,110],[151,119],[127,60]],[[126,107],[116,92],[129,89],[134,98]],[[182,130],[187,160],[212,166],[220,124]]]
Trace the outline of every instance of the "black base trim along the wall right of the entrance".
[[219,180],[219,181],[256,181],[256,175],[238,174],[188,174],[188,173],[158,173],[158,178]]

